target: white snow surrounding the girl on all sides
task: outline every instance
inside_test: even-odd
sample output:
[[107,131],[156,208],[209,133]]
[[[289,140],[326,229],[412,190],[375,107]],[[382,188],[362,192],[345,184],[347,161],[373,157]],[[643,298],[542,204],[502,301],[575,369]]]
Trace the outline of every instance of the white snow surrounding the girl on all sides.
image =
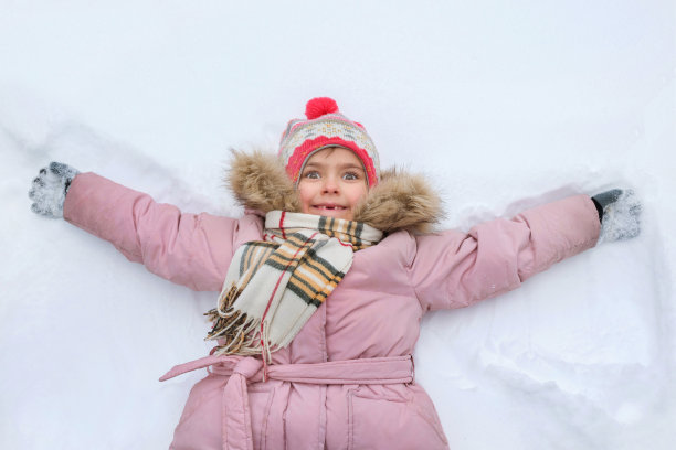
[[674,1],[0,0],[0,448],[161,449],[203,356],[196,293],[30,211],[52,160],[236,216],[228,148],[305,103],[423,172],[443,228],[633,188],[638,238],[429,314],[416,379],[452,449],[676,448]]

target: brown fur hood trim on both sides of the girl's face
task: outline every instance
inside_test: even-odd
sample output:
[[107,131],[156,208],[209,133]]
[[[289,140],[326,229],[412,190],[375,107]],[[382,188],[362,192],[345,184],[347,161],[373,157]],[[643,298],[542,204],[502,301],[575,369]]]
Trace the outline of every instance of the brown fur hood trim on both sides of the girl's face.
[[[300,212],[297,192],[276,154],[260,150],[232,153],[225,181],[244,207],[262,213]],[[441,218],[441,200],[423,176],[397,169],[382,171],[380,182],[355,210],[355,221],[384,233],[429,233]]]

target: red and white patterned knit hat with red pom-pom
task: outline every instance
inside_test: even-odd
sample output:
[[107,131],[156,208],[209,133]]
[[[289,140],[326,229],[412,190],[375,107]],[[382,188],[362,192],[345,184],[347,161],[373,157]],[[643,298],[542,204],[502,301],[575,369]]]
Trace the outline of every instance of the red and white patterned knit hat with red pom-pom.
[[307,120],[289,120],[279,142],[279,158],[294,183],[298,182],[307,160],[327,147],[352,150],[363,164],[369,186],[378,183],[378,150],[361,124],[341,115],[336,101],[328,97],[309,100],[305,116]]

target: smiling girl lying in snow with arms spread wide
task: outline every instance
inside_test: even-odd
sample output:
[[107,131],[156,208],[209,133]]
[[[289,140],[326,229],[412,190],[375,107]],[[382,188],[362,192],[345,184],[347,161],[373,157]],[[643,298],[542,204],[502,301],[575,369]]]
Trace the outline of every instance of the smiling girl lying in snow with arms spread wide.
[[422,315],[514,289],[593,247],[602,226],[606,239],[634,237],[641,212],[617,207],[627,194],[615,190],[432,234],[437,196],[420,176],[381,172],[365,128],[329,98],[289,121],[278,156],[235,152],[229,182],[239,219],[181,214],[61,163],[29,194],[35,213],[150,271],[221,291],[211,354],[160,378],[209,372],[173,449],[446,449],[414,377]]

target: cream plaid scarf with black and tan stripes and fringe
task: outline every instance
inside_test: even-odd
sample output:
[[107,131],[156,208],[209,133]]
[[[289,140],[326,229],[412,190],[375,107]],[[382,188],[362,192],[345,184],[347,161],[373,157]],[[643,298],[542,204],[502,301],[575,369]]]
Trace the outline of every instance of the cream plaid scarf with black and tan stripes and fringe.
[[355,251],[382,233],[360,222],[273,211],[264,240],[234,254],[216,308],[207,315],[215,354],[263,355],[287,346],[342,280]]

